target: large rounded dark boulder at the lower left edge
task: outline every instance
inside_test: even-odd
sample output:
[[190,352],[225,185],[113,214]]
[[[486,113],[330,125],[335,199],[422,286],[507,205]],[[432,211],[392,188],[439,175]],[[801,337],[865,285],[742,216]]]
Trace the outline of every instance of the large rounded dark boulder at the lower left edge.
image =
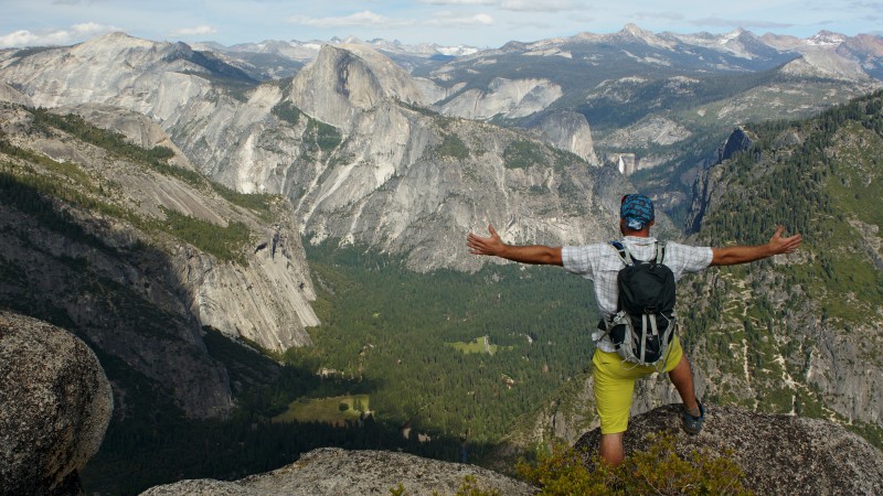
[[0,312],[0,495],[78,494],[114,399],[95,354],[73,334]]

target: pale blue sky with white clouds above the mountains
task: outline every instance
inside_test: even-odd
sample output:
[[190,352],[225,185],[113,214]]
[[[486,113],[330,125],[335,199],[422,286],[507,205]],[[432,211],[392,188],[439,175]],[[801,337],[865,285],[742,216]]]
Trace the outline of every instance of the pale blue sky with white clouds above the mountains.
[[68,45],[111,31],[225,45],[354,35],[479,47],[627,23],[656,33],[883,34],[883,0],[0,0],[0,47]]

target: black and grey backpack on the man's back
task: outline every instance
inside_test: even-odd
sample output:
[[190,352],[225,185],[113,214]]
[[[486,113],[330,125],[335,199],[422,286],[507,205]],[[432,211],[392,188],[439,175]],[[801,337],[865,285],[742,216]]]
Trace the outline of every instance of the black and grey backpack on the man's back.
[[625,267],[617,276],[617,313],[604,321],[623,359],[637,365],[657,365],[668,359],[674,336],[674,274],[664,263],[666,244],[656,244],[652,260],[638,260],[619,241],[610,242]]

